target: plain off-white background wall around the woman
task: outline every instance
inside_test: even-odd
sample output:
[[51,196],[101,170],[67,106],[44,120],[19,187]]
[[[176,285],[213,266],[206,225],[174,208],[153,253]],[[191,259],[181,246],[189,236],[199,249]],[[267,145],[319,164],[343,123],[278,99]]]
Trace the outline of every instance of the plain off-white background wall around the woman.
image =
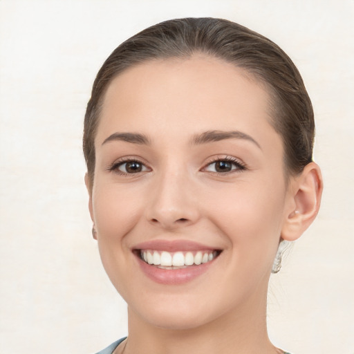
[[93,353],[127,334],[91,237],[86,102],[121,41],[202,16],[279,44],[315,108],[322,209],[272,275],[270,337],[293,354],[354,353],[353,0],[0,0],[1,353]]

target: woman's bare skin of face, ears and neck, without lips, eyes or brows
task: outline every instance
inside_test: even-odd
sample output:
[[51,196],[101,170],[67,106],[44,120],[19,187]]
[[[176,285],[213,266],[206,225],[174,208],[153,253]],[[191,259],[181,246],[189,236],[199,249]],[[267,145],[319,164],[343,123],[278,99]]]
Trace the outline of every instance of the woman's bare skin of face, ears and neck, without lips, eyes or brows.
[[[287,178],[268,102],[240,68],[202,55],[146,62],[111,82],[86,185],[102,263],[128,304],[129,340],[115,353],[279,353],[265,322],[270,271],[281,237],[297,239],[315,218],[322,178],[314,163]],[[250,138],[192,143],[207,131]],[[105,142],[114,133],[149,144]],[[232,170],[217,172],[225,158]],[[196,279],[165,285],[131,251],[154,239],[223,252]]]

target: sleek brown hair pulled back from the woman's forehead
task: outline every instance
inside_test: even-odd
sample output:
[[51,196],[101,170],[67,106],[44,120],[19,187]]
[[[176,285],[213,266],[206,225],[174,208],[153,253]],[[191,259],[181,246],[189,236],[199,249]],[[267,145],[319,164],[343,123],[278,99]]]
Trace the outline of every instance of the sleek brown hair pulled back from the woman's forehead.
[[244,68],[267,86],[272,126],[283,139],[286,169],[297,174],[312,160],[315,122],[310,97],[295,64],[270,39],[225,19],[187,18],[151,26],[124,41],[97,73],[84,120],[88,177],[95,171],[95,133],[104,94],[125,69],[152,59],[205,53]]

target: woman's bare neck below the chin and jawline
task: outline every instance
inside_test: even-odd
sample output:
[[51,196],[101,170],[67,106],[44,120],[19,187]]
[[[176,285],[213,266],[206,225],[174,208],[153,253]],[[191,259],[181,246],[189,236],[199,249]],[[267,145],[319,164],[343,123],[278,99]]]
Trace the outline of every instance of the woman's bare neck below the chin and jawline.
[[124,354],[275,354],[266,327],[264,301],[253,296],[241,308],[195,328],[153,326],[129,308],[129,337]]

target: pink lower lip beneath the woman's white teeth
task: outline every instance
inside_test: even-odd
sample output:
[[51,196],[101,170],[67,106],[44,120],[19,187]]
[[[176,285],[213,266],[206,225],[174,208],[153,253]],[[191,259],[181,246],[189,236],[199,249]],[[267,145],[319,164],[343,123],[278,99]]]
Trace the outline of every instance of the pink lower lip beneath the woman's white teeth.
[[167,285],[183,284],[196,279],[196,277],[205,273],[214,261],[215,259],[201,265],[191,265],[186,268],[168,270],[158,268],[156,265],[149,265],[138,258],[140,268],[147,277],[156,283]]

